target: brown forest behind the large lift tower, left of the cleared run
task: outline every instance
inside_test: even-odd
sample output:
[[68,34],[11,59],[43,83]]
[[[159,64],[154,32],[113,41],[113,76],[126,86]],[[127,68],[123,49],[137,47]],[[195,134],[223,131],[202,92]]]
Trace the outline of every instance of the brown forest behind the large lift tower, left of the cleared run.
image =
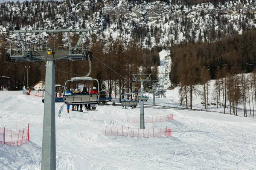
[[[55,38],[50,37],[49,46],[54,47],[57,44],[64,44],[62,39],[61,33],[58,33]],[[79,35],[74,34],[72,40],[77,41],[78,39]],[[0,38],[1,54],[6,54],[7,44],[8,42],[5,39]],[[137,42],[125,44],[122,40],[113,42],[93,40],[90,44],[90,51],[94,56],[91,62],[90,77],[99,79],[101,82],[107,80],[106,88],[109,90],[112,91],[114,86],[120,85],[132,90],[132,74],[151,73],[151,79],[158,79],[157,66],[160,64],[158,53],[161,48],[140,48]],[[87,43],[84,43],[84,46],[86,45]],[[68,50],[67,46],[58,48],[58,50],[61,49]],[[37,47],[34,50],[41,49]],[[29,87],[41,80],[45,81],[45,62],[6,62],[5,55],[2,55],[0,63],[0,87],[2,86],[1,76],[12,78],[14,81],[12,90],[21,90],[23,85],[26,85],[26,74],[28,74]],[[30,66],[30,68],[27,69],[25,66]],[[56,61],[55,84],[64,85],[68,79],[84,76],[88,71],[89,64],[87,61]],[[69,86],[70,88],[76,88],[76,85],[70,84]]]

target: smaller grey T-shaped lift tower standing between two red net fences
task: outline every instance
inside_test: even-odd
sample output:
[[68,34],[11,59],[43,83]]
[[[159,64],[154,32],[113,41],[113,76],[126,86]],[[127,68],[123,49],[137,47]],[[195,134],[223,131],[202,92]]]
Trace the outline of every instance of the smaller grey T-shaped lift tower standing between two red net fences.
[[[140,95],[143,97],[143,82],[150,82],[150,76],[152,74],[132,74],[135,82],[140,82]],[[140,129],[145,129],[144,120],[144,99],[140,98]]]

